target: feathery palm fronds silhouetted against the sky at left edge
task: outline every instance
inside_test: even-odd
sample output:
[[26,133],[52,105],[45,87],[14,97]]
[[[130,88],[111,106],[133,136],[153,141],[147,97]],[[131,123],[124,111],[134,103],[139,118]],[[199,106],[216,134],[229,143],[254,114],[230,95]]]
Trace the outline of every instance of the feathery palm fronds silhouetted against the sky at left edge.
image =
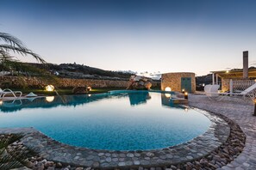
[[9,54],[9,52],[21,54],[22,56],[30,55],[38,62],[46,63],[46,61],[38,54],[24,46],[20,39],[17,39],[9,33],[0,32],[0,41],[3,41],[3,44],[0,43],[0,64],[4,64],[7,61],[17,61],[17,59],[14,59],[15,57]]

